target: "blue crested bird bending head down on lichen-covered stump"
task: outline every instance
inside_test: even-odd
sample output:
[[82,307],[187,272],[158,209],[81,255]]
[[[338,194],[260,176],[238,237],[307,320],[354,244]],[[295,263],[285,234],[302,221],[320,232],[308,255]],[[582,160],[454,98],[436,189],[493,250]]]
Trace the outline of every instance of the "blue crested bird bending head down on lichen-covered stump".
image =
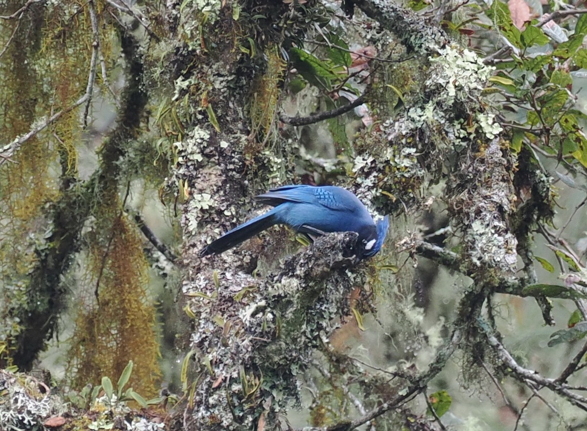
[[369,258],[380,250],[389,228],[387,216],[375,223],[365,205],[341,187],[282,186],[255,199],[274,208],[208,244],[200,256],[221,254],[274,224],[285,224],[312,239],[330,232],[357,232],[359,258]]

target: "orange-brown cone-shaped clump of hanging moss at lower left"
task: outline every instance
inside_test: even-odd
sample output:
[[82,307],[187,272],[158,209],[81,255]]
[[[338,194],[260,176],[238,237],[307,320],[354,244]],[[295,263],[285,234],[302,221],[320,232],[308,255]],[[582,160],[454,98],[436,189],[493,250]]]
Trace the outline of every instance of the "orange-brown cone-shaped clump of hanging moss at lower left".
[[160,371],[156,309],[149,299],[149,265],[136,228],[120,212],[113,197],[97,211],[97,224],[88,235],[87,290],[71,340],[69,379],[82,388],[113,381],[134,362],[130,386],[143,396],[157,391]]

